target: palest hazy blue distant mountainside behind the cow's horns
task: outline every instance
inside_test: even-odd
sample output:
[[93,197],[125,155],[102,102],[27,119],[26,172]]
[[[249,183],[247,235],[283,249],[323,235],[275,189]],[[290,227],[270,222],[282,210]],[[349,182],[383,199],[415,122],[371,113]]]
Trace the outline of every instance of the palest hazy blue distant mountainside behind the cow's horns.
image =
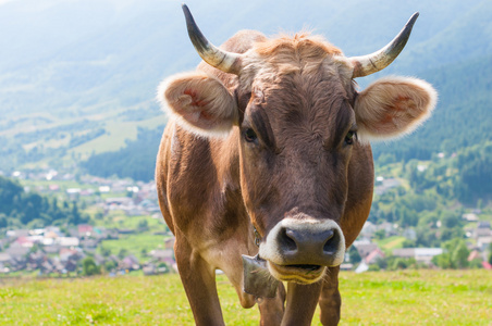
[[[407,49],[388,73],[411,74],[492,53],[490,1],[438,5],[379,0],[369,5],[360,0],[254,0],[241,11],[224,1],[189,2],[200,27],[216,43],[243,28],[274,34],[308,26],[347,55],[384,46],[420,10]],[[174,1],[126,0],[126,7],[110,0],[37,3],[16,0],[0,7],[3,114],[84,111],[100,102],[113,108],[137,104],[153,98],[163,76],[198,62]]]

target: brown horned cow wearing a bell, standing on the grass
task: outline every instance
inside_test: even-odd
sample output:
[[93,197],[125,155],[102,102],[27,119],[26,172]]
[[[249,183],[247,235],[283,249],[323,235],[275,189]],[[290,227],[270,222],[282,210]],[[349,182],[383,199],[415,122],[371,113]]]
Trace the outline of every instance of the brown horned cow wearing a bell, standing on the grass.
[[381,50],[347,58],[308,33],[242,30],[218,48],[183,11],[204,61],[158,88],[170,120],[156,181],[195,322],[224,325],[222,269],[260,325],[310,325],[317,304],[336,325],[340,265],[372,201],[370,141],[411,133],[436,102],[417,78],[362,91],[354,78],[399,54],[418,13]]

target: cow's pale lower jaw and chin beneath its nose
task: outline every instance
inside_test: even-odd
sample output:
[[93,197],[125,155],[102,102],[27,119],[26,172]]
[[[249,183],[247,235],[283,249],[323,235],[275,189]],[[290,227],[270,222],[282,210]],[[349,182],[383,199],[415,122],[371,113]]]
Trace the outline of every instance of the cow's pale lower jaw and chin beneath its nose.
[[268,261],[268,271],[274,278],[305,285],[320,280],[325,269],[319,265],[278,265]]

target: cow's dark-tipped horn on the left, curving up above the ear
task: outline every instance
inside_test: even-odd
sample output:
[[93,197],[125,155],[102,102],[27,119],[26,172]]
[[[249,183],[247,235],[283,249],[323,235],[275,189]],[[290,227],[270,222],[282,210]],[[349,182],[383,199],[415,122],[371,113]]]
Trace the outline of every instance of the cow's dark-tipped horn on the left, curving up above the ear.
[[193,46],[200,54],[201,59],[211,66],[223,71],[224,73],[238,74],[241,71],[241,58],[238,53],[223,51],[211,42],[201,34],[200,28],[195,23],[192,13],[186,4],[183,3],[183,12],[186,17],[186,26],[188,27],[189,39]]

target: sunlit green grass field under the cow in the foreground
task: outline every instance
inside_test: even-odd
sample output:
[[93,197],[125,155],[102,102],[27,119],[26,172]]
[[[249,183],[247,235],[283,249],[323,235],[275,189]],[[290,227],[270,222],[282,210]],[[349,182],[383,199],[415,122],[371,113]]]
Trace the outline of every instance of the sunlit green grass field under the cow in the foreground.
[[[341,273],[340,325],[492,325],[492,272]],[[218,276],[226,325],[258,325]],[[1,279],[0,325],[194,325],[177,275]],[[320,325],[318,313],[312,325]]]

